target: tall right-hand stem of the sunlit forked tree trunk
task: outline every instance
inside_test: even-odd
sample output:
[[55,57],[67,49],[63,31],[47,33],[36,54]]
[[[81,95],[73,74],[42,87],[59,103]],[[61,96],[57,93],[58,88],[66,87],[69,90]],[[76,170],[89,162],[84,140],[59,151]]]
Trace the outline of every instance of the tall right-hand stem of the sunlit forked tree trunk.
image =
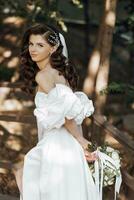
[[100,95],[100,91],[107,87],[110,66],[110,53],[112,48],[113,31],[116,19],[117,0],[105,0],[104,19],[101,40],[100,66],[96,78],[95,105],[96,112],[101,113],[106,102],[106,95]]

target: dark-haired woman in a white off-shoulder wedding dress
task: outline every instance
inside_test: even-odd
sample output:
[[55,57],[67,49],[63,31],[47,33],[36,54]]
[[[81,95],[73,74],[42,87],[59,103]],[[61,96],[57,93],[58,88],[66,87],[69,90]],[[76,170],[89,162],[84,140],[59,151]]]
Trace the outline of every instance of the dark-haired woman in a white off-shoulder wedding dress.
[[94,108],[83,92],[75,91],[78,78],[67,59],[64,37],[46,25],[30,27],[23,37],[21,61],[24,89],[34,94],[37,86],[39,141],[18,171],[20,199],[97,200],[87,163],[96,155],[86,151],[89,141],[81,131]]

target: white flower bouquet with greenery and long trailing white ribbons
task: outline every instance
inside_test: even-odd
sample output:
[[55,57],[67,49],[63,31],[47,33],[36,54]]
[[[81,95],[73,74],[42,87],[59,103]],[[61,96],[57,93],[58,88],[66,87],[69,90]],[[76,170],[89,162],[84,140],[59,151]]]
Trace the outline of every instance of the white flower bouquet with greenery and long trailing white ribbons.
[[88,163],[98,199],[102,200],[103,198],[103,187],[115,184],[114,199],[116,200],[116,193],[119,193],[122,182],[119,152],[108,146],[107,143],[99,147],[96,144],[89,144],[87,150],[89,152],[96,151],[98,157],[94,163]]

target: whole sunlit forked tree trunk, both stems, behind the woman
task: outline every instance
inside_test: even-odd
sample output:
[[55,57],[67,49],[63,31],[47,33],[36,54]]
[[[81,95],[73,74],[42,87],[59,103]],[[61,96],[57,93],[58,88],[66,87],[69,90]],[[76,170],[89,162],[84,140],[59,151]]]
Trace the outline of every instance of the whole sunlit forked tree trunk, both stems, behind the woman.
[[97,113],[102,112],[106,101],[106,95],[101,96],[100,91],[108,84],[109,59],[116,19],[116,6],[117,0],[104,0],[104,11],[97,44],[89,61],[88,77],[84,82],[84,92],[95,96]]

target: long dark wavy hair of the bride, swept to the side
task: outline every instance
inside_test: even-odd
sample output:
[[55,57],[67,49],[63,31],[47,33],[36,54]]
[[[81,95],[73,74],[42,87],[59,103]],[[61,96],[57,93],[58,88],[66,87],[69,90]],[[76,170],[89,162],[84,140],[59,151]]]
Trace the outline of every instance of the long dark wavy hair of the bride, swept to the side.
[[77,89],[78,85],[78,74],[75,67],[71,62],[63,55],[63,45],[60,40],[59,32],[55,27],[36,24],[28,28],[22,38],[21,52],[20,52],[20,80],[23,80],[22,89],[26,93],[34,96],[35,87],[37,83],[35,81],[35,76],[39,71],[36,62],[32,61],[29,54],[29,38],[30,35],[42,35],[45,40],[51,46],[56,45],[58,39],[58,48],[50,56],[50,64],[53,68],[59,71],[59,75],[63,75],[68,81],[72,90]]

